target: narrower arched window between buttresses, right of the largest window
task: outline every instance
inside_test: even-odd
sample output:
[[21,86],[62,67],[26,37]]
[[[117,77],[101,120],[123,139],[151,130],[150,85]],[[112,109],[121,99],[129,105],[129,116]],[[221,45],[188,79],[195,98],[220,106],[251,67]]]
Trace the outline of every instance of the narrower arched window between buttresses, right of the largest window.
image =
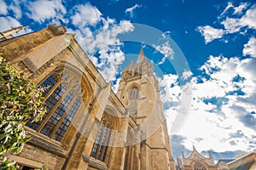
[[113,129],[113,119],[104,113],[102,124],[97,133],[95,143],[91,150],[90,156],[100,161],[105,161],[108,153],[108,145],[110,142],[111,131]]

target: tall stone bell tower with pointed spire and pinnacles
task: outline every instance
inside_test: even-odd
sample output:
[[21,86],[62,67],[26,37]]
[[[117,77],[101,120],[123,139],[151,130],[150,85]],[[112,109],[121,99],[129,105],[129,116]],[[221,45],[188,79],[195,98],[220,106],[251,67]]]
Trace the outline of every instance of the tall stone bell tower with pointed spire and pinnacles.
[[117,96],[140,127],[137,137],[140,169],[175,169],[159,84],[143,48],[136,64],[131,61],[122,72]]

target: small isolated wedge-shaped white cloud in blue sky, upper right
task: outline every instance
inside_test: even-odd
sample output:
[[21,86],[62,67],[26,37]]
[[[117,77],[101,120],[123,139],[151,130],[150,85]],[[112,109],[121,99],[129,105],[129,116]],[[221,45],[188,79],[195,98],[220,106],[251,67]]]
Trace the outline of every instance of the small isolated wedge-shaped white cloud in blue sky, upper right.
[[212,42],[214,39],[223,37],[224,30],[216,29],[212,26],[199,26],[198,30],[201,32],[201,35],[205,38],[205,42]]

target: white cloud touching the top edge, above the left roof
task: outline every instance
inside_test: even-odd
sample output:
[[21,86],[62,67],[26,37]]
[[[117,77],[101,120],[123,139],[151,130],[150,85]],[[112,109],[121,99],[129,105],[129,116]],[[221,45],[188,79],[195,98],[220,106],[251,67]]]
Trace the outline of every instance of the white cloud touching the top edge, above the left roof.
[[44,20],[62,19],[62,15],[67,13],[61,0],[37,0],[28,3],[27,8],[29,10],[27,16],[40,23]]

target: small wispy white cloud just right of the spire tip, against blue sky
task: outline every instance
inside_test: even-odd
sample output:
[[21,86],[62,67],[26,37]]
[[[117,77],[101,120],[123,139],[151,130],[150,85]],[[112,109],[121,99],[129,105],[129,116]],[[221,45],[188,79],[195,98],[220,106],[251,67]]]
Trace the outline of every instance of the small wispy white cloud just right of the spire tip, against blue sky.
[[174,51],[169,42],[162,43],[161,45],[154,45],[153,47],[159,51],[161,54],[164,54],[164,57],[158,62],[158,65],[162,65],[167,58],[173,59]]

